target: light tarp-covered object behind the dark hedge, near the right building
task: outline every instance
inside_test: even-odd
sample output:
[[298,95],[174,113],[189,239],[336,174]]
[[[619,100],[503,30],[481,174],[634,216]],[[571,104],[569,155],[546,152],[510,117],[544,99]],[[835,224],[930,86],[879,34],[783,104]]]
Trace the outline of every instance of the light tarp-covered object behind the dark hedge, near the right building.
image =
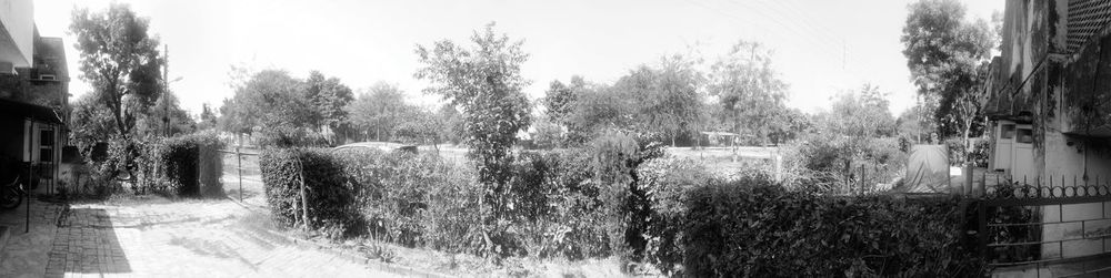
[[907,162],[901,192],[949,193],[949,153],[945,145],[914,145]]

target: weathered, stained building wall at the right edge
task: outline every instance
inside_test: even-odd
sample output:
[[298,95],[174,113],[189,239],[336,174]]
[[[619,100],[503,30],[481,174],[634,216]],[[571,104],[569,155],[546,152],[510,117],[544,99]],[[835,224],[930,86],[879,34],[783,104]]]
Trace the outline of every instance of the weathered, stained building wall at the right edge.
[[[1102,42],[1111,39],[1097,33],[1089,47],[1078,48],[1075,41],[1069,47],[1068,14],[1070,4],[1075,2],[1007,1],[1002,56],[993,61],[997,72],[989,83],[991,100],[987,110],[997,119],[995,123],[1013,120],[1029,122],[1033,127],[1033,166],[1029,171],[1012,168],[1009,173],[1020,182],[1025,177],[1030,185],[1058,187],[1111,182],[1111,133],[1090,132],[1111,122],[1111,51],[1100,51],[1111,48],[1111,43]],[[1104,48],[1091,47],[1100,43]],[[1082,130],[1085,132],[1078,132]],[[998,135],[993,140],[994,159],[1007,151],[999,150]],[[1012,167],[1019,164],[1015,159],[1023,159],[1014,154],[1012,151],[1009,164]],[[1111,228],[1111,202],[1042,206],[1040,212],[1041,220],[1050,223],[1097,219],[1044,225],[1045,241],[1080,238]],[[1042,258],[1058,258],[1098,254],[1104,248],[1111,247],[1099,240],[1078,240],[1047,244],[1041,250]]]

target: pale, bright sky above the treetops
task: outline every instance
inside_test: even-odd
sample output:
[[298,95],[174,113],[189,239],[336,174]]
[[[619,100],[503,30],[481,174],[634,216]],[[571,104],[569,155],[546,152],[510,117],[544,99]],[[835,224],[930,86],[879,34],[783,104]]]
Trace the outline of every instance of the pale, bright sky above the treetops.
[[[1003,0],[962,0],[969,17],[990,19]],[[107,9],[108,0],[34,0],[43,37],[68,33],[71,11]],[[397,84],[411,103],[433,107],[428,83],[413,78],[416,47],[439,40],[467,42],[476,30],[523,40],[530,59],[524,92],[541,97],[553,80],[581,75],[612,83],[640,64],[668,54],[698,54],[712,62],[739,40],[773,50],[773,68],[790,84],[788,105],[817,112],[830,97],[864,83],[890,93],[898,115],[914,104],[914,87],[899,42],[910,0],[191,0],[118,1],[150,19],[169,48],[171,90],[181,105],[230,99],[232,65],[281,69],[306,78],[318,70],[357,92],[377,82]],[[70,93],[87,94],[79,54],[67,50]]]

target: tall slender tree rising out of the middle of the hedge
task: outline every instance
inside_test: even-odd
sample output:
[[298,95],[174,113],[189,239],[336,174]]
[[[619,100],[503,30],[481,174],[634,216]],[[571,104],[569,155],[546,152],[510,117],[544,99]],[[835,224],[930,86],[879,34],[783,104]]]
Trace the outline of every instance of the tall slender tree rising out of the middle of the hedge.
[[511,207],[507,196],[510,147],[517,143],[517,133],[529,125],[531,106],[521,91],[529,84],[521,76],[521,64],[529,58],[521,51],[523,41],[510,41],[508,35],[496,33],[493,27],[490,23],[482,32],[476,31],[470,49],[450,40],[431,48],[418,45],[422,66],[414,75],[431,83],[426,93],[438,94],[463,110],[469,155],[478,161],[484,203],[492,209],[493,217],[486,222],[500,227],[499,222]]

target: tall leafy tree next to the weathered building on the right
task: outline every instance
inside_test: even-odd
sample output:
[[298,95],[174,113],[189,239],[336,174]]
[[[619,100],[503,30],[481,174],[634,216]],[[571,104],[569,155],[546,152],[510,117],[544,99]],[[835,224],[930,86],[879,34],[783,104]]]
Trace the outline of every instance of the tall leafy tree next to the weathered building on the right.
[[900,39],[903,55],[924,109],[933,112],[939,133],[951,136],[981,130],[982,124],[973,124],[961,131],[965,117],[979,115],[959,113],[953,107],[962,97],[982,97],[965,95],[975,94],[985,80],[983,64],[989,62],[997,41],[992,28],[983,19],[965,19],[965,7],[957,0],[920,0],[908,9]]

